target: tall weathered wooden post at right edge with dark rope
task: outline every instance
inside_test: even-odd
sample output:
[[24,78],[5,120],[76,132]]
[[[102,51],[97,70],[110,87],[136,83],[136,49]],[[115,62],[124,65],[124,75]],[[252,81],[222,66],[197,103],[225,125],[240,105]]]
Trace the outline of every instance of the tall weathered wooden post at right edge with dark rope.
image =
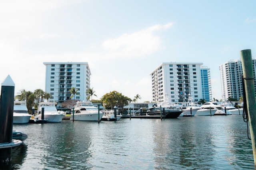
[[252,54],[251,50],[242,50],[241,54],[241,63],[244,77],[244,90],[246,95],[246,106],[248,109],[248,120],[250,125],[250,135],[252,139],[252,151],[254,157],[254,166],[256,168],[256,145],[255,145],[255,136],[256,136],[256,102],[255,102],[255,91],[254,91],[254,77],[252,69]]

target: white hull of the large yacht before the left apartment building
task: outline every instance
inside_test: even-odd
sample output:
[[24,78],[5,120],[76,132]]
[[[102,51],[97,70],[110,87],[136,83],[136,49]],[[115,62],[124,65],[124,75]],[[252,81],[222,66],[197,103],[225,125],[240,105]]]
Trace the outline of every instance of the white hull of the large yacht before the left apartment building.
[[[98,121],[99,115],[101,120],[103,113],[75,113],[74,120]],[[70,116],[70,120],[73,120],[73,115]]]

